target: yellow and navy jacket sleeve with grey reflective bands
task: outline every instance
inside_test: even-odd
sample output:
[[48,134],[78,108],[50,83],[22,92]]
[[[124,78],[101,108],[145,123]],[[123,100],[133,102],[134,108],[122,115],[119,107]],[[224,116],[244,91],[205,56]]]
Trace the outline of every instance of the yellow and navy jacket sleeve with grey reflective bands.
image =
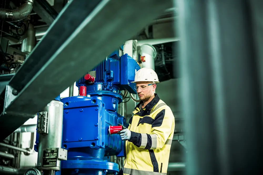
[[151,134],[142,134],[131,131],[129,139],[134,145],[140,148],[155,150],[161,149],[171,133],[174,132],[174,115],[171,109],[161,110],[154,118]]

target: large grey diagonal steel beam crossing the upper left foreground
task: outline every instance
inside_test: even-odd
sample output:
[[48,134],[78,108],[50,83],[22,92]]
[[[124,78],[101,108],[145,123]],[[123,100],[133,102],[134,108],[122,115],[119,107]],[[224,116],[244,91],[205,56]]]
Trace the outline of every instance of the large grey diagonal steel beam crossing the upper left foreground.
[[[4,115],[0,117],[0,132],[3,133],[0,140],[33,118],[70,84],[170,6],[170,0],[67,3],[9,82],[11,91],[7,92],[7,99],[13,100],[6,103]],[[136,13],[134,9],[147,15]],[[46,49],[47,45],[52,47]],[[68,71],[69,67],[73,71]]]

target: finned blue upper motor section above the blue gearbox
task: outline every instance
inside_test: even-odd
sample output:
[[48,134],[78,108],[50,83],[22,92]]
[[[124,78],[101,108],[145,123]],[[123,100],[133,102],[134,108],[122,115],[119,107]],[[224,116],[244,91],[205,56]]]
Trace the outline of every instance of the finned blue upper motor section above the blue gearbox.
[[119,91],[126,89],[130,93],[136,94],[135,83],[131,82],[134,80],[135,72],[139,69],[140,66],[128,54],[121,56],[119,60],[107,58],[93,68],[92,71],[96,71],[96,77],[92,86],[84,77],[76,82],[76,86],[87,86],[87,93],[92,91],[119,93]]

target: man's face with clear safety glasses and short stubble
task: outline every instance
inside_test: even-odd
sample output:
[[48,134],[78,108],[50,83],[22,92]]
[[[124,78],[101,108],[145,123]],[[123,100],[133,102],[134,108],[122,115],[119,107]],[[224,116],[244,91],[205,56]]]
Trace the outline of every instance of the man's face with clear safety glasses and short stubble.
[[136,82],[137,95],[140,100],[147,101],[154,95],[156,84],[153,82],[141,81]]

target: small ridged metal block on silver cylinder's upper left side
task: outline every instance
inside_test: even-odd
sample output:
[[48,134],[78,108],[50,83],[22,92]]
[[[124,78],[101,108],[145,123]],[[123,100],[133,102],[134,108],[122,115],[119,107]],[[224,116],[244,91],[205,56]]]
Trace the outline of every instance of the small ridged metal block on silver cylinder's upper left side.
[[37,119],[37,132],[39,134],[48,134],[48,112],[39,112]]

